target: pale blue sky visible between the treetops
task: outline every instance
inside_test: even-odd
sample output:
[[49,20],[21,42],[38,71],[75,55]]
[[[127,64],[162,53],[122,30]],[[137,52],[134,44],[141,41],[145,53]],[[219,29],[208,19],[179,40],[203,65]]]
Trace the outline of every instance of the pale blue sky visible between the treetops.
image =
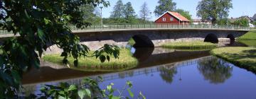
[[[110,6],[107,8],[102,8],[102,16],[103,18],[108,18],[110,16],[110,12],[113,9],[113,6],[116,4],[117,0],[108,0],[110,1]],[[149,10],[154,12],[155,7],[158,5],[158,0],[122,0],[123,3],[127,3],[128,1],[132,2],[132,6],[136,11],[137,15],[139,15],[140,6],[146,1],[148,4]],[[174,0],[176,2],[176,8],[182,8],[186,11],[189,11],[192,15],[192,18],[198,18],[196,16],[196,6],[198,1],[201,0]],[[233,8],[230,9],[229,17],[239,17],[244,15],[253,16],[256,13],[256,0],[233,0]],[[156,17],[154,13],[152,14],[152,20]]]

